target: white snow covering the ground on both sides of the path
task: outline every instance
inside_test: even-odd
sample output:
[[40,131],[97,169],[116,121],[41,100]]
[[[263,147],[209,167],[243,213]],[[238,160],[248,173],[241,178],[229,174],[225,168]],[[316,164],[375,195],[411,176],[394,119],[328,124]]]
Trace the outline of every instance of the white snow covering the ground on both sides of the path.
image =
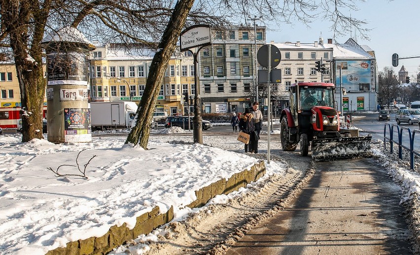
[[[124,136],[99,136],[91,143],[70,144],[39,139],[21,143],[19,134],[0,136],[2,254],[43,255],[70,241],[100,237],[114,224],[134,226],[136,217],[156,205],[161,213],[174,205],[175,220],[180,220],[196,210],[185,208],[195,199],[195,190],[257,162],[241,153],[241,143],[223,136],[204,137],[204,145],[199,145],[191,144],[188,134],[192,131],[167,128],[152,133],[148,150],[124,145]],[[176,133],[186,136],[173,135]],[[399,160],[383,147],[383,141],[372,141],[374,159],[388,169],[409,199],[412,192],[420,191],[420,175],[407,170],[407,157]],[[76,165],[83,171],[90,159],[87,179],[56,177],[47,169],[65,165],[59,168],[61,174],[81,174]],[[416,161],[420,169],[419,159]],[[265,178],[286,169],[273,160],[266,165]]]

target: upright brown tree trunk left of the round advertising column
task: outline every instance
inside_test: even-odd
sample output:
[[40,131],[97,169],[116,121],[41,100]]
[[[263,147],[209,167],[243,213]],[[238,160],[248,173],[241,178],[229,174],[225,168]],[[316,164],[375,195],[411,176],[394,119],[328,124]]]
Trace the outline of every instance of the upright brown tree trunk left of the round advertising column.
[[[46,81],[42,68],[42,49],[39,42],[42,39],[44,26],[42,22],[46,17],[36,19],[37,25],[34,27],[32,44],[28,47],[28,26],[31,24],[29,13],[38,17],[36,7],[32,3],[22,1],[6,1],[3,4],[8,11],[2,13],[3,26],[10,31],[10,46],[13,51],[16,73],[21,92],[22,106],[22,142],[28,142],[34,138],[42,139],[42,109],[45,96]],[[20,6],[17,9],[15,6]],[[29,53],[30,52],[30,53]]]

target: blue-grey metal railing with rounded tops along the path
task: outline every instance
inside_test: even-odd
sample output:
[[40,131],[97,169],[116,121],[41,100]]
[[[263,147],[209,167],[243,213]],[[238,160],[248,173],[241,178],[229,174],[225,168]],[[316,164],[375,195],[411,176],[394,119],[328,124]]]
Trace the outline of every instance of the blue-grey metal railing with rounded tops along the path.
[[[386,127],[388,127],[389,130],[389,137],[386,137]],[[397,134],[398,134],[398,141],[394,140],[394,127],[397,128]],[[402,143],[402,138],[403,138],[403,130],[407,130],[408,131],[408,137],[409,137],[409,143],[410,143],[410,147],[405,146]],[[409,127],[400,127],[396,124],[392,124],[392,126],[390,124],[385,124],[384,127],[384,149],[386,150],[386,140],[389,141],[389,145],[390,145],[390,153],[392,154],[394,151],[393,145],[394,143],[396,143],[398,145],[398,158],[403,159],[402,158],[402,149],[404,148],[405,150],[407,150],[410,153],[410,169],[414,170],[414,155],[417,155],[420,157],[420,152],[414,150],[414,141],[415,141],[415,137],[416,137],[416,133],[420,133],[419,129],[414,129],[413,132],[411,131],[411,129]]]

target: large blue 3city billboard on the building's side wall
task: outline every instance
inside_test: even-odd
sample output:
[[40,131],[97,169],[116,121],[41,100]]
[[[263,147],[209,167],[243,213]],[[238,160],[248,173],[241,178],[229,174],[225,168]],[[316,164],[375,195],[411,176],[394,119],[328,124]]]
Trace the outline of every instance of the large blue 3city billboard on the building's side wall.
[[337,61],[336,84],[340,84],[340,68],[342,85],[356,85],[357,90],[363,91],[369,91],[369,87],[375,87],[375,61]]

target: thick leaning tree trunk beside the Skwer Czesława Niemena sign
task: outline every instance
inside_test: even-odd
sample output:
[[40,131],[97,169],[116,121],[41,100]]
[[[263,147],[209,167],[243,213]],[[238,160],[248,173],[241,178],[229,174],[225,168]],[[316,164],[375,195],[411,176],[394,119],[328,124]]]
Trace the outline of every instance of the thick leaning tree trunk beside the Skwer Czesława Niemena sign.
[[178,37],[185,25],[188,13],[194,3],[194,0],[178,0],[175,5],[172,17],[162,35],[158,50],[153,57],[150,65],[149,76],[147,77],[144,94],[141,97],[139,109],[137,110],[137,123],[129,133],[125,143],[138,143],[144,149],[147,149],[149,141],[150,123],[153,117],[153,111],[160,87],[162,85],[163,75],[175,50]]

